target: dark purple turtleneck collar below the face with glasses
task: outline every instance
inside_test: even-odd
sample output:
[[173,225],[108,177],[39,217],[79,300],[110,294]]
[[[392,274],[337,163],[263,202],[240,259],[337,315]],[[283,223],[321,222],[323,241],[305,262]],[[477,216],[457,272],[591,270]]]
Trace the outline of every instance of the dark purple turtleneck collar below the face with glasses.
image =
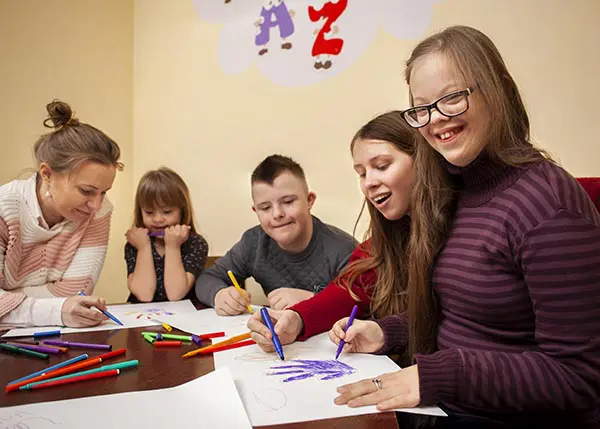
[[444,160],[446,170],[459,182],[459,206],[477,207],[513,185],[525,169],[494,160],[487,151],[465,167]]

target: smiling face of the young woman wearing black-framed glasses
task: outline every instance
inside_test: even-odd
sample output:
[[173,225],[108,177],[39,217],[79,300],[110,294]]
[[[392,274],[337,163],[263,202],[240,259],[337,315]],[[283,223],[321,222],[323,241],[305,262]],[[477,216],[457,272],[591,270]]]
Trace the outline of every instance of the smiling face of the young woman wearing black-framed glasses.
[[[440,97],[475,86],[465,82],[454,64],[440,53],[431,53],[415,61],[410,73],[413,105],[429,104]],[[464,167],[469,165],[489,141],[489,114],[481,92],[469,96],[469,109],[462,115],[448,118],[436,109],[431,121],[419,128],[427,142],[448,162]]]

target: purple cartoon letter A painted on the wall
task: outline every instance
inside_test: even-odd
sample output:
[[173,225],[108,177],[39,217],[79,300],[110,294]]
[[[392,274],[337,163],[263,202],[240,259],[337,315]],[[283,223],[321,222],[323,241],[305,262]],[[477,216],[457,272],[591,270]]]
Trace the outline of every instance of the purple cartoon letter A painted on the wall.
[[271,29],[279,30],[281,39],[281,49],[288,50],[292,48],[292,42],[288,38],[294,34],[294,11],[288,9],[284,0],[263,0],[260,17],[254,23],[258,33],[254,43],[258,48],[258,55],[264,55],[269,52],[271,45]]

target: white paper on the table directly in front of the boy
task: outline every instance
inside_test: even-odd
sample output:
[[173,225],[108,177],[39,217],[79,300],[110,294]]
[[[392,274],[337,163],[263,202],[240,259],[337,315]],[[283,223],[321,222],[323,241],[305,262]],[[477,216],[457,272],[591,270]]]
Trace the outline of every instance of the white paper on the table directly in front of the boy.
[[[260,311],[260,306],[253,305],[252,309]],[[250,313],[240,314],[238,316],[218,316],[213,308],[199,310],[194,313],[177,313],[176,315],[164,315],[161,321],[190,334],[207,334],[209,332],[225,332],[227,337],[248,332],[248,319]],[[220,338],[216,340],[221,341]]]

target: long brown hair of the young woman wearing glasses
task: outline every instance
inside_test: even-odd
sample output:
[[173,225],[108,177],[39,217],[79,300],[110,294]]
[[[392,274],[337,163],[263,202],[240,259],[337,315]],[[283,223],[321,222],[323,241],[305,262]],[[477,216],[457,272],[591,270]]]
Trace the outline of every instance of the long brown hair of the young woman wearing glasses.
[[[431,54],[444,55],[468,85],[477,85],[490,115],[485,150],[491,162],[519,167],[549,158],[530,141],[527,110],[489,37],[471,27],[454,26],[426,38],[407,61],[405,79],[409,87],[415,62]],[[412,105],[412,94],[410,101]],[[408,264],[408,352],[411,356],[431,353],[436,347],[439,313],[431,277],[454,212],[454,194],[448,186],[448,172],[441,155],[429,144],[420,144],[415,164],[417,182],[411,210]]]

